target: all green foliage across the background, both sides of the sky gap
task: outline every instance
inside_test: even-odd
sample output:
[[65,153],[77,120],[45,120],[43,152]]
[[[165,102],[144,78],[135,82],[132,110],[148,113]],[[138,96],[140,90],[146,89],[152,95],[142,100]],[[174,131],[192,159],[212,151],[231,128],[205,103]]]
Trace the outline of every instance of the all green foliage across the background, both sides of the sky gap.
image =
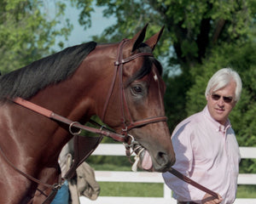
[[[208,79],[230,66],[243,82],[241,100],[230,115],[241,146],[256,145],[256,2],[254,0],[69,0],[79,23],[91,26],[94,6],[116,23],[96,42],[119,42],[149,23],[147,37],[165,26],[154,55],[163,61],[166,116],[170,131],[206,105]],[[57,37],[73,26],[63,19],[68,1],[0,0],[0,70],[15,70],[53,52]],[[54,5],[55,12],[50,9]],[[60,42],[60,46],[63,46]],[[241,172],[255,173],[256,161],[242,161]]]

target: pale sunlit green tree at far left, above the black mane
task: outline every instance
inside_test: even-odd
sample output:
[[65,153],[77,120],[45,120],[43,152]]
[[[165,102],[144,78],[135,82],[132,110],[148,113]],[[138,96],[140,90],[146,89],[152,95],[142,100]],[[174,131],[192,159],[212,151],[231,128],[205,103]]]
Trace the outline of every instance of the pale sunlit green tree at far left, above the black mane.
[[[61,1],[0,0],[2,73],[50,54],[55,37],[69,35],[72,26],[61,17],[65,7],[65,3]],[[56,28],[63,21],[63,27]]]

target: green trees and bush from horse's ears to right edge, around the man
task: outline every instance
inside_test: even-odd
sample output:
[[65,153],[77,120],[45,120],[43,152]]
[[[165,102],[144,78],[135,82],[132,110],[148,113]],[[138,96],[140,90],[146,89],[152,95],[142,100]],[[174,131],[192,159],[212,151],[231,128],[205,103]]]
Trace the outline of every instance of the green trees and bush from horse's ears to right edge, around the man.
[[[91,24],[93,5],[104,7],[105,17],[116,18],[113,26],[94,38],[100,42],[131,37],[148,22],[148,36],[166,26],[154,54],[165,59],[165,104],[171,130],[206,105],[205,88],[215,71],[228,66],[238,71],[243,91],[230,120],[240,145],[256,145],[254,0],[72,1],[84,8],[80,13],[84,27]],[[249,168],[255,166],[253,162]]]

